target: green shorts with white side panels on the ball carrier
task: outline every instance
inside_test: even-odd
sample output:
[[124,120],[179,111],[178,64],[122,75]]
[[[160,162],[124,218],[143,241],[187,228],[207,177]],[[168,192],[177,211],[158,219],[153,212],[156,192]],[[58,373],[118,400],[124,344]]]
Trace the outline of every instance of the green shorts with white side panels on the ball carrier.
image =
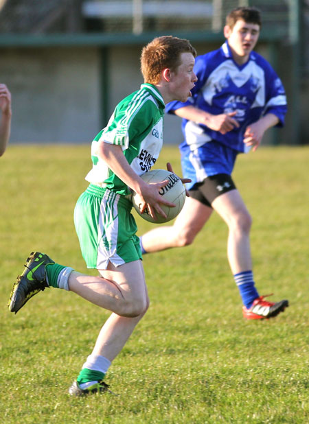
[[141,259],[132,202],[117,193],[89,185],[76,202],[74,224],[87,268],[106,270]]

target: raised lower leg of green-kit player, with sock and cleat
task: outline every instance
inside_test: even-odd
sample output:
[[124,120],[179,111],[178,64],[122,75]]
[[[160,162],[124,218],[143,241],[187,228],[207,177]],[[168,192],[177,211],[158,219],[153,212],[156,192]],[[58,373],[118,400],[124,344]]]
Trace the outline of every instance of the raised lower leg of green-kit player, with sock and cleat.
[[138,279],[133,279],[132,283],[125,280],[117,283],[102,276],[81,274],[55,263],[44,253],[32,252],[23,273],[17,277],[8,306],[16,314],[34,294],[46,287],[56,287],[71,290],[120,316],[138,316],[146,307],[146,298],[139,285]]

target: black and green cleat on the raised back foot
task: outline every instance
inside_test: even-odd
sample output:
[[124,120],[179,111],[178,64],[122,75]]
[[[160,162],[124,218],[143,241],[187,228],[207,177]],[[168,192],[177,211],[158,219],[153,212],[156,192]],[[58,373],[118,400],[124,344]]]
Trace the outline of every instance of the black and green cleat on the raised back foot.
[[34,294],[49,287],[46,279],[47,265],[52,265],[54,261],[47,255],[40,252],[32,252],[25,263],[23,274],[17,277],[13,286],[8,307],[11,312],[18,312]]

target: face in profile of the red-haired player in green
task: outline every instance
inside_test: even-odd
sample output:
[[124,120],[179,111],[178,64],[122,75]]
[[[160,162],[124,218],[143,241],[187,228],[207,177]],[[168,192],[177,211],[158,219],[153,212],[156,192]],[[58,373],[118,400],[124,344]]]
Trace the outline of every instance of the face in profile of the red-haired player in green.
[[181,64],[176,72],[170,74],[170,95],[172,100],[186,102],[190,97],[197,77],[193,71],[194,56],[192,53],[181,53]]

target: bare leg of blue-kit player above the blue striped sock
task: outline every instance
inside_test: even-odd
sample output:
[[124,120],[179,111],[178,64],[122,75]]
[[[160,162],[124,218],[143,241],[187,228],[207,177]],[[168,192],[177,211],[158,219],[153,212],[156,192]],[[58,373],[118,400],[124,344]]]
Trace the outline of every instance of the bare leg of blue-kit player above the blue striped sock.
[[249,233],[251,216],[238,190],[218,196],[211,206],[229,227],[227,257],[233,274],[252,270]]

